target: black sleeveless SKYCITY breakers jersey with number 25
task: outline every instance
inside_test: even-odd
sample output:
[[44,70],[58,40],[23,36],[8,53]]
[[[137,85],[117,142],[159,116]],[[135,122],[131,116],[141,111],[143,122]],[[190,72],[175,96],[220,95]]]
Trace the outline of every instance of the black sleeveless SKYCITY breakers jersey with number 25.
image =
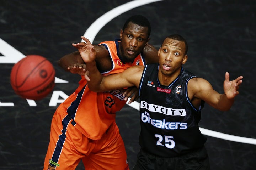
[[188,80],[196,76],[182,68],[169,86],[163,86],[158,81],[158,69],[158,63],[145,66],[140,80],[140,146],[160,157],[201,148],[206,142],[198,127],[204,101],[196,109],[187,93]]

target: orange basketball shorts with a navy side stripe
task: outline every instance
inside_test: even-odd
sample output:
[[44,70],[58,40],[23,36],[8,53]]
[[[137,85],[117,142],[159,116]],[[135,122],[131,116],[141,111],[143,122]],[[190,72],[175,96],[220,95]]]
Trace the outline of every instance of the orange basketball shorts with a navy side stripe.
[[129,170],[124,143],[116,123],[100,140],[91,140],[72,125],[62,104],[53,115],[44,170]]

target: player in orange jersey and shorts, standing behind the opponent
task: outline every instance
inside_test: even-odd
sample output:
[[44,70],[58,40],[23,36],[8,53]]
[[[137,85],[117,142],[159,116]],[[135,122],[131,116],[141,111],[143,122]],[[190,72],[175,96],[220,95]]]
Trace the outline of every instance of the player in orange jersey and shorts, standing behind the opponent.
[[[134,65],[158,62],[157,50],[148,45],[150,29],[148,19],[132,16],[120,30],[121,40],[94,45],[101,73],[110,75]],[[84,78],[85,63],[79,52],[64,56],[59,65],[80,74],[81,80],[79,87],[53,115],[44,170],[75,170],[80,160],[86,170],[129,170],[115,113],[126,104],[134,90],[90,91]],[[130,102],[137,98],[136,94],[138,92]]]

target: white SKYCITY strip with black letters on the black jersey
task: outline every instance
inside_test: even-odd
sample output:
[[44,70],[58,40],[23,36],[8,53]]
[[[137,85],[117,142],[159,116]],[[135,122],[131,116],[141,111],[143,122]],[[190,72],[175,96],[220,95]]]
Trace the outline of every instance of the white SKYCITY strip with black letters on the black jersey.
[[160,105],[155,105],[155,104],[149,104],[145,101],[140,102],[140,108],[145,108],[150,112],[158,112],[170,116],[186,116],[186,111],[185,109],[172,109],[168,107],[163,107]]

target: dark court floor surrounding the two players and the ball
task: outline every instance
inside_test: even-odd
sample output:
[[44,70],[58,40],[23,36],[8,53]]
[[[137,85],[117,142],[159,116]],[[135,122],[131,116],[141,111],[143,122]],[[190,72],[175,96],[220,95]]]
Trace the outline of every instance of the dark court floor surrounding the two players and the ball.
[[[49,106],[53,93],[30,106],[15,94],[10,72],[17,57],[37,54],[46,57],[56,77],[69,83],[57,83],[54,91],[70,95],[80,77],[66,73],[58,65],[60,57],[76,51],[87,28],[106,12],[128,0],[0,0],[0,169],[42,169],[47,151],[52,115],[58,104]],[[207,79],[215,90],[223,92],[225,72],[230,79],[243,75],[240,94],[230,111],[217,111],[208,105],[202,112],[201,128],[239,137],[245,142],[207,135],[206,148],[213,170],[252,170],[256,167],[256,1],[164,0],[121,13],[97,33],[94,44],[119,37],[119,30],[131,15],[146,16],[152,26],[150,44],[160,47],[169,34],[181,34],[188,41],[185,69]],[[60,101],[63,98],[60,97]],[[14,106],[6,106],[12,103]],[[126,144],[130,167],[139,151],[139,114],[126,105],[117,113],[117,123]],[[248,139],[250,138],[250,139]],[[249,144],[250,141],[252,144]],[[83,169],[80,164],[77,170]]]

